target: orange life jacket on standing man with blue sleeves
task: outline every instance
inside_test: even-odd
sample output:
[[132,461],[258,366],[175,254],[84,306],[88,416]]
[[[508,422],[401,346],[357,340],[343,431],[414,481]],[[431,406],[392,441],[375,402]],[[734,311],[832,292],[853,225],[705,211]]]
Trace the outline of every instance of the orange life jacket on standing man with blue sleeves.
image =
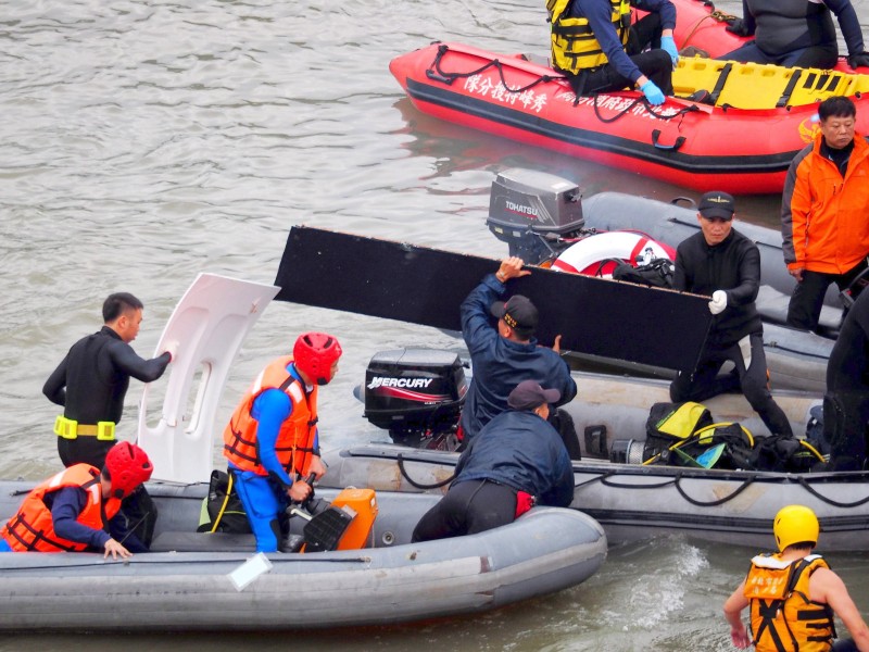
[[256,430],[260,423],[252,416],[253,402],[267,389],[279,389],[292,402],[292,413],[280,426],[275,453],[290,477],[293,473],[307,475],[317,431],[317,387],[305,391],[304,384],[287,367],[292,356],[269,363],[242,397],[224,429],[224,456],[241,471],[268,475],[256,452]]

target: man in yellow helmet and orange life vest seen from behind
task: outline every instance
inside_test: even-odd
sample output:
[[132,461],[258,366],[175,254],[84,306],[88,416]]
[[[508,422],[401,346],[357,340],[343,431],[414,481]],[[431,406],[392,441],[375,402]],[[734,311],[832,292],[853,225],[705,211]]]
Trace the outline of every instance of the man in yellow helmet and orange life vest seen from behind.
[[[725,602],[733,644],[754,644],[757,652],[827,652],[833,649],[835,614],[854,639],[844,648],[840,641],[835,649],[869,652],[869,627],[845,582],[821,555],[811,553],[820,532],[815,512],[804,505],[782,507],[772,532],[779,552],[755,556],[747,577]],[[741,617],[746,606],[753,638]]]

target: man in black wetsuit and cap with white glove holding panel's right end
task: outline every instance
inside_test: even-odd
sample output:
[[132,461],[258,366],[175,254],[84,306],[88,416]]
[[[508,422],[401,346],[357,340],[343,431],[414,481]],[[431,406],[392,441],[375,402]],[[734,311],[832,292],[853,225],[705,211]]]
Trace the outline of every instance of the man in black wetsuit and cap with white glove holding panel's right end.
[[[680,371],[670,400],[704,401],[741,388],[772,435],[792,436],[791,424],[767,385],[764,326],[754,301],[760,286],[760,252],[733,229],[733,197],[706,192],[700,201],[701,233],[676,250],[673,289],[710,296],[715,315],[696,368]],[[718,376],[725,362],[731,374]]]

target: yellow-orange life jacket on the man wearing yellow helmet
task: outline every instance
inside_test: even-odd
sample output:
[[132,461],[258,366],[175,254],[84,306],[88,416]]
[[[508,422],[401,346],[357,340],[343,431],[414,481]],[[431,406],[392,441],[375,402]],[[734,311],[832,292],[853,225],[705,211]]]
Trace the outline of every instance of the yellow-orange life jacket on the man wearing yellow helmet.
[[808,598],[808,582],[818,568],[829,568],[819,554],[785,562],[780,554],[752,560],[745,579],[752,632],[757,652],[828,652],[835,628],[829,605]]

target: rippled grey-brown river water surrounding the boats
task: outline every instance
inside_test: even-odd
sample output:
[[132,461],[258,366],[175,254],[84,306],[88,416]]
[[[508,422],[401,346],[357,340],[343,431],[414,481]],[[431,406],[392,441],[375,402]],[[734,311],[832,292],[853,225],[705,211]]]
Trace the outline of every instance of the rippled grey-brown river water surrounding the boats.
[[[484,218],[490,184],[506,167],[559,174],[585,196],[694,197],[440,123],[416,112],[389,74],[392,57],[438,39],[545,54],[542,2],[8,0],[3,7],[0,477],[38,479],[58,468],[56,410],[41,386],[66,349],[98,329],[112,291],[144,301],[135,347],[150,354],[199,272],[272,283],[295,224],[498,258],[504,247]],[[869,34],[869,0],[855,7]],[[721,8],[740,12],[732,0]],[[746,220],[774,225],[778,199],[744,198],[739,208]],[[364,422],[351,393],[374,352],[457,346],[428,328],[275,303],[239,355],[218,427],[261,366],[307,329],[336,334],[345,351],[322,398],[328,446],[386,439]],[[135,435],[140,396],[134,385],[122,438]],[[437,624],[281,636],[35,632],[0,639],[0,652],[730,650],[720,606],[753,552],[679,538],[618,547],[580,587]],[[859,606],[869,607],[866,556],[837,554],[831,562]]]

